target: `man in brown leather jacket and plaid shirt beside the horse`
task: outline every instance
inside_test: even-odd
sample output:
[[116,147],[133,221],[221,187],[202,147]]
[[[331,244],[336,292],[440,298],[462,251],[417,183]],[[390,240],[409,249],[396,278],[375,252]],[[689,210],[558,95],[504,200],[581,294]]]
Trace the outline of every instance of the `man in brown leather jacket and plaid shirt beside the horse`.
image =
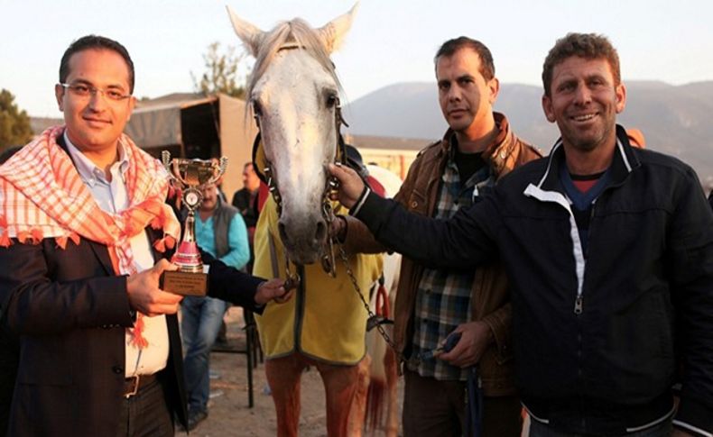
[[[467,37],[446,41],[435,64],[449,130],[421,150],[395,199],[410,211],[448,218],[541,153],[514,135],[505,115],[493,112],[499,83],[484,44]],[[352,217],[347,223],[346,242],[364,242],[357,237],[363,225]],[[404,258],[400,278],[394,341],[405,360],[404,435],[465,432],[467,369],[473,365],[485,399],[482,435],[520,435],[504,269],[496,260],[468,271],[427,269]],[[434,357],[452,332],[460,332],[460,341]]]

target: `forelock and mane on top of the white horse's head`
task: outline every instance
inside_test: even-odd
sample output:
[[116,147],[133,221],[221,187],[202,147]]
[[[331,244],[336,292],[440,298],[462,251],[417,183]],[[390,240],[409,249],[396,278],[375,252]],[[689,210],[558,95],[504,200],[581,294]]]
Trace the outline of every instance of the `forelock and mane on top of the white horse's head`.
[[329,53],[324,47],[324,42],[318,31],[312,29],[310,24],[301,18],[294,18],[288,22],[278,23],[272,31],[265,33],[260,44],[260,51],[255,59],[255,66],[247,83],[245,103],[249,105],[250,96],[257,81],[264,75],[265,70],[273,61],[275,55],[285,46],[295,46],[302,50],[307,50],[310,56],[317,60],[334,79],[338,88],[341,89],[337,71],[334,64],[329,59]]

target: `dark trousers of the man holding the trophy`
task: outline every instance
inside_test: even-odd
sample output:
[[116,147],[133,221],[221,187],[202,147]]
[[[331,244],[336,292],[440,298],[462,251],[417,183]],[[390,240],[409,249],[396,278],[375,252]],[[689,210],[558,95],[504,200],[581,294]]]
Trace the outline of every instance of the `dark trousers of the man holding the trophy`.
[[173,437],[173,418],[161,383],[142,387],[135,396],[122,397],[117,437]]

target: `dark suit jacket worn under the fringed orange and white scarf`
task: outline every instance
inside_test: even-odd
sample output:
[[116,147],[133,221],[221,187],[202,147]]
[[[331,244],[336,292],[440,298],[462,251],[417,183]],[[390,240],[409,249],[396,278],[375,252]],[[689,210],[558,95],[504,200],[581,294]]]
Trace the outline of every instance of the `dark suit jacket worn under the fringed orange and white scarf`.
[[[159,237],[150,227],[146,232],[150,241]],[[210,296],[259,311],[254,296],[262,279],[202,255],[210,266]],[[116,435],[125,328],[134,320],[126,277],[114,273],[106,246],[82,239],[79,245],[68,241],[62,250],[54,239],[45,239],[0,248],[0,311],[20,336],[8,435]],[[185,424],[176,315],[167,315],[166,323],[171,348],[162,382],[172,411]]]

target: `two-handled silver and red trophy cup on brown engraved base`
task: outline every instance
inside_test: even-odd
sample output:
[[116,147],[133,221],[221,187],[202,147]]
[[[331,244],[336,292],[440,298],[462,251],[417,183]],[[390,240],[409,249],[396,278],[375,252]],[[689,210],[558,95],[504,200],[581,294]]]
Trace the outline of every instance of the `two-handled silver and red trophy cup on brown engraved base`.
[[219,162],[203,159],[171,159],[171,153],[161,153],[163,167],[168,170],[171,184],[181,189],[181,202],[188,215],[183,224],[181,242],[171,262],[179,269],[164,271],[162,289],[183,296],[206,296],[208,275],[203,272],[203,262],[196,242],[196,209],[203,201],[202,188],[214,184],[226,171],[227,158]]

